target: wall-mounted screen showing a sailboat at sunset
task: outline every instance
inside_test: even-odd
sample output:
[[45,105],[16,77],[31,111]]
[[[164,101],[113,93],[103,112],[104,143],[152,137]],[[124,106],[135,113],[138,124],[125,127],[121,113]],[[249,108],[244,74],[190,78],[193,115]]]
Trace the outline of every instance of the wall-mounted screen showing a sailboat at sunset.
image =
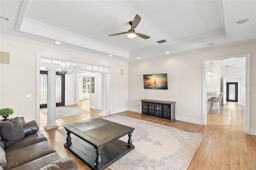
[[144,89],[168,89],[167,73],[143,75]]

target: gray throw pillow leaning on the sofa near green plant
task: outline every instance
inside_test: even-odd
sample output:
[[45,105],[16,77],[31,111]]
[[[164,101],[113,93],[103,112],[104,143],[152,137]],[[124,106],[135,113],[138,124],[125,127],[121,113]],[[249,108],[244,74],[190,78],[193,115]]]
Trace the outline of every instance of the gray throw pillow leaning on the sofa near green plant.
[[18,117],[10,119],[9,121],[1,122],[0,127],[5,147],[18,142],[25,137]]

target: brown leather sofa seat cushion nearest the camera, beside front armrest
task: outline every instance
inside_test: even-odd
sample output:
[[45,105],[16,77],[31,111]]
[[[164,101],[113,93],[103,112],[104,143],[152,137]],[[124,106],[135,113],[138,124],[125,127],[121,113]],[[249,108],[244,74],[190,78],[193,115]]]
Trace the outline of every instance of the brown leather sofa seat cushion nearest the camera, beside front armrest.
[[60,159],[60,156],[54,152],[41,158],[24,163],[16,168],[13,168],[12,170],[38,170],[58,159]]

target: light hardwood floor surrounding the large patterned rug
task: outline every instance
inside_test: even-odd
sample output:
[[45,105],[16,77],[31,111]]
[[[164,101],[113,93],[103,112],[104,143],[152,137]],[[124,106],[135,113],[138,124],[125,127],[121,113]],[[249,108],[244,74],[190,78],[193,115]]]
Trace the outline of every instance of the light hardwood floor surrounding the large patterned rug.
[[[75,106],[85,108],[85,105],[88,104],[81,102],[80,105]],[[256,136],[244,133],[244,107],[236,105],[235,103],[227,103],[225,107],[226,109],[233,111],[232,125],[203,126],[183,121],[174,121],[170,123],[141,117],[140,113],[132,111],[125,111],[118,114],[201,133],[204,138],[192,158],[190,165],[188,166],[188,170],[255,170]],[[83,118],[79,119],[84,121],[84,119],[87,120],[98,117],[100,111],[94,109],[91,109],[91,111],[93,111],[92,114],[85,115]],[[64,148],[63,144],[66,142],[66,138],[57,131],[58,129],[63,128],[64,125],[76,123],[77,119],[78,118],[70,118],[67,119],[67,121],[60,120],[58,122],[63,125],[59,124],[62,125],[59,128],[51,130],[43,130],[41,128],[40,130],[42,134],[48,138],[51,146],[54,147],[60,157],[63,158],[69,156],[74,158],[78,164],[79,170],[89,170],[90,168],[88,168],[88,166]]]

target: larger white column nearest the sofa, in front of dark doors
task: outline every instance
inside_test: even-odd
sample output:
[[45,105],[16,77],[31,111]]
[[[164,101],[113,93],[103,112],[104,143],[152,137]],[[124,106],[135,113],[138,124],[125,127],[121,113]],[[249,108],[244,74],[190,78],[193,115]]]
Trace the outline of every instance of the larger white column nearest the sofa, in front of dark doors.
[[47,125],[46,130],[59,127],[56,124],[56,69],[46,68],[47,75]]

